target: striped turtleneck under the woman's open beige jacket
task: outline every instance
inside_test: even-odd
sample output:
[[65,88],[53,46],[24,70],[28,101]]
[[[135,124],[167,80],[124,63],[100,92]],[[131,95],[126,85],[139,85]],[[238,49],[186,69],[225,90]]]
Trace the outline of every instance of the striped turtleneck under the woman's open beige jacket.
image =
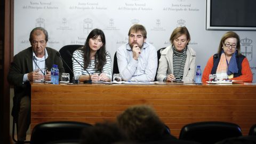
[[184,67],[187,59],[186,48],[182,52],[178,52],[173,47],[173,75],[176,81],[183,78]]

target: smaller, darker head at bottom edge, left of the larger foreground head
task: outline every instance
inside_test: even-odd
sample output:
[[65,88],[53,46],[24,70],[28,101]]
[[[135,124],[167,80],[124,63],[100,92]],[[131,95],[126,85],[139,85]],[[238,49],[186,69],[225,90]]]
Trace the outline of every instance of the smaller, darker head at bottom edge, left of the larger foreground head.
[[82,144],[108,144],[127,140],[125,133],[115,123],[96,123],[82,132]]

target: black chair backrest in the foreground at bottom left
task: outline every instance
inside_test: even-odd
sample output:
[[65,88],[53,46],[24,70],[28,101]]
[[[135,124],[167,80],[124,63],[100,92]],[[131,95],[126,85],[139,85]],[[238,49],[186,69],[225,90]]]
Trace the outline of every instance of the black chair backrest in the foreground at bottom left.
[[82,130],[88,126],[92,125],[70,121],[37,124],[31,133],[30,143],[43,144],[58,140],[79,140]]

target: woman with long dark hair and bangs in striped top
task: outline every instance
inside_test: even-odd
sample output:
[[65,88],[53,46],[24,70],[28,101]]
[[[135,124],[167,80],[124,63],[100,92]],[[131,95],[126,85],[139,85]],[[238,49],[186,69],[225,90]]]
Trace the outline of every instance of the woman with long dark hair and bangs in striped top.
[[[93,82],[110,82],[111,79],[111,58],[105,45],[106,39],[103,31],[93,29],[87,36],[85,45],[73,53],[73,57],[89,72]],[[90,80],[86,70],[76,60],[73,59],[75,79],[80,82]]]

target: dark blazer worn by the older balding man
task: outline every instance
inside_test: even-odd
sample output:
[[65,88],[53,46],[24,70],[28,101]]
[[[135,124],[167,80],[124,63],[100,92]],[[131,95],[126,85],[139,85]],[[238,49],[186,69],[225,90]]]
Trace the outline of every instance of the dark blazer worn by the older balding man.
[[[46,47],[48,58],[46,59],[47,70],[50,71],[53,64],[58,65],[60,75],[65,73],[63,63],[60,57],[56,55],[57,50]],[[23,83],[23,75],[33,71],[33,50],[32,47],[19,52],[13,58],[7,80],[14,85],[12,116],[17,120],[20,107],[20,100],[24,95],[31,97],[30,83]]]

